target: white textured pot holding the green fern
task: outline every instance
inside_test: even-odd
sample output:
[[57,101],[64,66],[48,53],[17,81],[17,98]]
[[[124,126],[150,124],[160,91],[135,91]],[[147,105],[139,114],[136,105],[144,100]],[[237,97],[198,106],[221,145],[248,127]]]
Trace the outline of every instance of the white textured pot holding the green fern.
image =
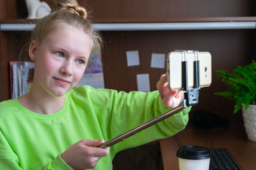
[[242,106],[243,110],[243,120],[244,127],[248,139],[250,141],[256,142],[256,104],[250,104],[247,110],[244,109],[244,105]]

